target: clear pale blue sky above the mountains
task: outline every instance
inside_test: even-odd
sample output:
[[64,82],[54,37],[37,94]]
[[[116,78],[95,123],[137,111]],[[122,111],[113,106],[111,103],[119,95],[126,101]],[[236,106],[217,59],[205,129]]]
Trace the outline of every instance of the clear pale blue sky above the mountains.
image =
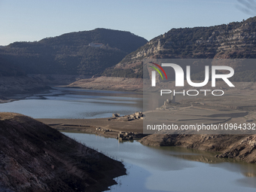
[[0,0],[0,45],[96,28],[148,40],[172,28],[215,26],[254,15],[236,0]]

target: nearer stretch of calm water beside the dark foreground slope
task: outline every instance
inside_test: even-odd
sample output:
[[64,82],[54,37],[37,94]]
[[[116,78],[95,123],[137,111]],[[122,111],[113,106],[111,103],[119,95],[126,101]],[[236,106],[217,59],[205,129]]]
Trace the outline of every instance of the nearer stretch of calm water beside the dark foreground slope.
[[[65,133],[99,151],[123,160],[128,175],[111,191],[255,191],[256,166],[215,158],[215,153],[174,147],[148,147],[139,142],[83,133]],[[248,175],[250,177],[248,177]]]

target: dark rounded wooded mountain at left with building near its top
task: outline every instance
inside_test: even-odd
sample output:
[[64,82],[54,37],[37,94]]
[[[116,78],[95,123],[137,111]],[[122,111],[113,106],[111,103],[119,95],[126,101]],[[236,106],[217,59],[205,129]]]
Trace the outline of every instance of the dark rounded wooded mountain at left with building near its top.
[[131,32],[94,29],[14,42],[0,47],[0,57],[28,74],[96,75],[147,42]]

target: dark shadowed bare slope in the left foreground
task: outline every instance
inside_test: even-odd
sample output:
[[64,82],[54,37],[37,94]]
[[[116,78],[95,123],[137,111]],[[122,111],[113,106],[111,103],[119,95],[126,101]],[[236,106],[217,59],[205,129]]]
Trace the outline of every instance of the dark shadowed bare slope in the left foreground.
[[44,123],[0,113],[0,189],[102,191],[126,174],[123,164]]

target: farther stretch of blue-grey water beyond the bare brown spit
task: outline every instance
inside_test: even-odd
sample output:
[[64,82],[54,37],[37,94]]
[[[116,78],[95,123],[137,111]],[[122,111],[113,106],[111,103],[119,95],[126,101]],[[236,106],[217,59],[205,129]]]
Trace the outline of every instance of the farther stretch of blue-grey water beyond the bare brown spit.
[[26,99],[0,104],[0,111],[17,112],[34,118],[111,117],[112,113],[124,115],[142,111],[142,94],[55,88],[50,93],[34,94],[26,96]]

